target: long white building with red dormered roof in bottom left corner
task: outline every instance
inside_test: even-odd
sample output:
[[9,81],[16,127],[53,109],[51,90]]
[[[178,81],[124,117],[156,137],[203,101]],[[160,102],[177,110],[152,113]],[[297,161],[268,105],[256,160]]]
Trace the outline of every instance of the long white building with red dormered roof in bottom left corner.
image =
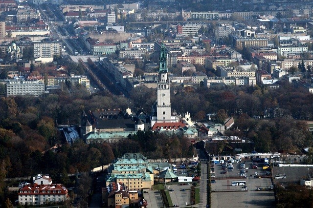
[[67,188],[62,184],[26,185],[18,192],[20,205],[45,205],[61,203],[69,199]]

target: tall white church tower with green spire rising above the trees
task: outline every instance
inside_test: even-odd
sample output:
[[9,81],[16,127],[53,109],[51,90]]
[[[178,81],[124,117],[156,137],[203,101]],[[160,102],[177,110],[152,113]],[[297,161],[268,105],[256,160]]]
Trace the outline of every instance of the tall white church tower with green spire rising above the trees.
[[171,122],[170,83],[167,78],[167,55],[165,45],[162,43],[159,58],[156,122]]

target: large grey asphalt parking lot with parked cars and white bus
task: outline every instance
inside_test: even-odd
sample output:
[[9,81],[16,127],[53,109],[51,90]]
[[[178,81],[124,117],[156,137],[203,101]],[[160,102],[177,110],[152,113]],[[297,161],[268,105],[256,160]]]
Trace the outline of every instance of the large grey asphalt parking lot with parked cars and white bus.
[[[222,174],[222,164],[214,165],[215,180],[212,183],[212,205],[214,208],[224,208],[225,201],[231,202],[231,207],[272,207],[274,205],[273,191],[257,191],[256,188],[267,188],[272,185],[270,178],[259,178],[266,176],[266,170],[262,167],[251,169],[250,161],[245,162],[245,168],[239,169],[239,163],[233,164],[233,170]],[[248,168],[248,169],[246,169]],[[228,169],[228,168],[227,168]],[[246,177],[240,174],[240,171],[245,172]],[[255,177],[256,175],[256,177]],[[245,186],[232,186],[232,182],[245,181]],[[245,188],[243,188],[245,187]]]

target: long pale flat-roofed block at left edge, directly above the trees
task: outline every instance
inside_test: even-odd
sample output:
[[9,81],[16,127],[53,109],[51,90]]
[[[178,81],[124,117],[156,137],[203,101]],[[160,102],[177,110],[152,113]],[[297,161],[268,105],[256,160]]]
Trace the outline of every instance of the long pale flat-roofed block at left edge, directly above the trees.
[[33,95],[40,96],[45,92],[45,83],[41,81],[9,81],[6,83],[6,96]]

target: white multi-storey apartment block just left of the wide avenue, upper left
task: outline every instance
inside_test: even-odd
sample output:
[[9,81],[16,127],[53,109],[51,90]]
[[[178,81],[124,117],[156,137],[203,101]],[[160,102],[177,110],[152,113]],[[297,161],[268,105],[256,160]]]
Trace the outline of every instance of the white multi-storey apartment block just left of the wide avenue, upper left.
[[34,57],[53,58],[54,55],[61,55],[61,46],[60,42],[34,42]]

